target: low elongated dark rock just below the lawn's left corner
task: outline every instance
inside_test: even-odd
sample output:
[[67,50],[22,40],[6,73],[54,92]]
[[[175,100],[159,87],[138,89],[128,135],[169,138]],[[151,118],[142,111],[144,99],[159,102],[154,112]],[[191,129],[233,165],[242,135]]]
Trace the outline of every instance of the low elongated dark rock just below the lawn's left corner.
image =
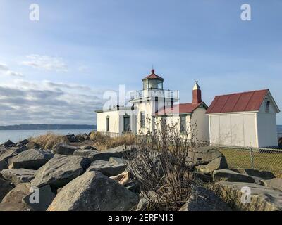
[[229,169],[215,170],[213,174],[214,181],[230,181],[230,182],[245,182],[255,183],[255,179],[247,174],[239,174]]

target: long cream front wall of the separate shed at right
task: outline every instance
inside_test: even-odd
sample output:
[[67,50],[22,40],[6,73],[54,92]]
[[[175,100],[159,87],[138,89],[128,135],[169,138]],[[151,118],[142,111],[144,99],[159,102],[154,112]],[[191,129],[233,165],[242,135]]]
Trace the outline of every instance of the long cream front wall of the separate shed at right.
[[209,115],[210,142],[227,146],[257,147],[256,113]]

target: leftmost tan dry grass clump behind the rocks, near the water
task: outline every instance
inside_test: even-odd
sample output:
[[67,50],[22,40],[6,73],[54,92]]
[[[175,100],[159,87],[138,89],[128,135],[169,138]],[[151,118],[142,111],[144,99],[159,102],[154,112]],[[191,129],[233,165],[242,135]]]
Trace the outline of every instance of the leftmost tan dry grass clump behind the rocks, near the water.
[[68,143],[68,139],[66,136],[54,133],[40,135],[35,138],[31,138],[30,141],[37,143],[39,146],[42,146],[44,150],[50,150],[51,148],[56,146],[56,144],[59,143]]

